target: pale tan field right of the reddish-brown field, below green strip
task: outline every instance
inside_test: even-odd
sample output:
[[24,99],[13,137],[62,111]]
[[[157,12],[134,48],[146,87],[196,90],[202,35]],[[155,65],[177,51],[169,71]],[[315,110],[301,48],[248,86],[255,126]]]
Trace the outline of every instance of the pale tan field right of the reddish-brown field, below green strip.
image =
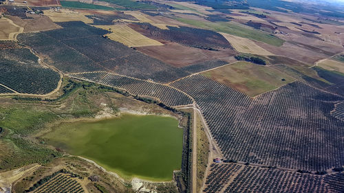
[[268,52],[266,49],[257,45],[254,41],[249,40],[248,38],[241,38],[225,33],[220,34],[222,34],[222,36],[227,39],[230,45],[232,45],[234,49],[237,50],[237,52],[257,55],[274,55],[271,52]]

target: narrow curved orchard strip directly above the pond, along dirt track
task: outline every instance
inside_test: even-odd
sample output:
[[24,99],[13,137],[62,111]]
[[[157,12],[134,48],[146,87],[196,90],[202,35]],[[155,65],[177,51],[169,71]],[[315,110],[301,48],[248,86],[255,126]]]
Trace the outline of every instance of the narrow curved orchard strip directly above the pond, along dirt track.
[[79,78],[111,87],[125,89],[133,95],[149,96],[157,98],[168,106],[192,104],[191,98],[184,93],[163,84],[128,78],[107,72],[89,72],[71,74],[73,78]]

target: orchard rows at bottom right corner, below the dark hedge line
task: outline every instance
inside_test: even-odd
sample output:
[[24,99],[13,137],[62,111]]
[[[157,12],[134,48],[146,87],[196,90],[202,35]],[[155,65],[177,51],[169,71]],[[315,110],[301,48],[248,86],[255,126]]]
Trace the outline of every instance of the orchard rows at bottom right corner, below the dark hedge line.
[[[242,168],[239,172],[237,168]],[[219,177],[234,175],[225,187]],[[219,183],[218,183],[219,181]],[[236,163],[212,164],[204,192],[341,192],[344,174],[326,176],[286,170],[241,166]]]

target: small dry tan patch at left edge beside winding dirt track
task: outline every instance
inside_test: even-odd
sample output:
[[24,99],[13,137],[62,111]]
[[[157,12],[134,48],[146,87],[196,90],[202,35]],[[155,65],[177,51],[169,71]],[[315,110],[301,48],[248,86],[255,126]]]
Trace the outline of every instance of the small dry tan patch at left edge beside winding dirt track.
[[14,40],[17,34],[21,32],[23,32],[23,29],[10,19],[0,19],[0,40]]

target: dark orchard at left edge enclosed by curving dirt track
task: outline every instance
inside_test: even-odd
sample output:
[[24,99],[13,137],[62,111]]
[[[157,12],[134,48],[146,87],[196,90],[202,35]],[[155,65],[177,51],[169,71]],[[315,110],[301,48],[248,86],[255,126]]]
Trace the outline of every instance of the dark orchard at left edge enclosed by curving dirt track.
[[46,94],[58,86],[60,75],[38,63],[30,49],[2,49],[0,84],[18,93]]

